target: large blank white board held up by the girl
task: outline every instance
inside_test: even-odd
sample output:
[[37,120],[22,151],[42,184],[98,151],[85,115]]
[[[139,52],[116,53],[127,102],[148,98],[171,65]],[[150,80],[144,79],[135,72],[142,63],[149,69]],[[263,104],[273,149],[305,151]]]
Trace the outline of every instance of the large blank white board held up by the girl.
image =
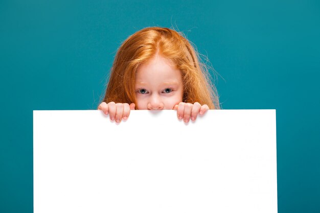
[[276,110],[33,111],[34,212],[277,212]]

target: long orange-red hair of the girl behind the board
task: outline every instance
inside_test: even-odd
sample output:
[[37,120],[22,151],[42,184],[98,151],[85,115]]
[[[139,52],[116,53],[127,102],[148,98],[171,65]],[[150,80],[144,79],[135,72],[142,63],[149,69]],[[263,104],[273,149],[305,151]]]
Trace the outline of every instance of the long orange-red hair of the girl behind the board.
[[216,87],[207,68],[199,63],[193,46],[181,33],[169,28],[150,27],[129,36],[120,46],[111,68],[104,102],[135,103],[135,73],[140,64],[155,54],[171,60],[181,70],[184,83],[183,101],[207,104],[219,109]]

